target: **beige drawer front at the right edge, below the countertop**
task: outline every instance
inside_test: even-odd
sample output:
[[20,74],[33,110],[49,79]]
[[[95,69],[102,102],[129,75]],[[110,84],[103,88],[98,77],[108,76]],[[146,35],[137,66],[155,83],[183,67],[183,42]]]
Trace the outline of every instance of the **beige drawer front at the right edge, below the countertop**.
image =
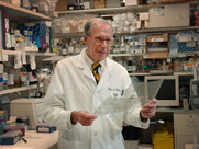
[[174,114],[175,135],[199,135],[199,113]]

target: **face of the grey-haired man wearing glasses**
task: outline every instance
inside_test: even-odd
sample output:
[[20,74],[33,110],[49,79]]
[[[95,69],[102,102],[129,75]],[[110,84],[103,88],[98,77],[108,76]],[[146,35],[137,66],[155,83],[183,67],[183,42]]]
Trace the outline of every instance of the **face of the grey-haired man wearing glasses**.
[[90,35],[85,35],[87,55],[93,61],[101,61],[107,58],[111,49],[112,28],[109,24],[95,23]]

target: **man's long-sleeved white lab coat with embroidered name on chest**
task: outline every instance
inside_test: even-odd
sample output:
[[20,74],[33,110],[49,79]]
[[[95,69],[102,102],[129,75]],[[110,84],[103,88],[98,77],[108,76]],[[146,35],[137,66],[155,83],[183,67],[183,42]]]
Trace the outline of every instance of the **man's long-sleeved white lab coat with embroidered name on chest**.
[[[107,98],[123,96],[132,88],[126,70],[110,58],[106,59],[99,84],[85,64],[86,50],[59,61],[55,68],[44,102],[44,119],[59,127],[59,149],[124,149],[121,134],[123,122],[147,128],[140,119],[141,104],[128,112],[98,116],[91,126],[71,125],[71,111],[95,111]],[[135,92],[129,92],[134,94]],[[140,108],[137,108],[137,106]]]

